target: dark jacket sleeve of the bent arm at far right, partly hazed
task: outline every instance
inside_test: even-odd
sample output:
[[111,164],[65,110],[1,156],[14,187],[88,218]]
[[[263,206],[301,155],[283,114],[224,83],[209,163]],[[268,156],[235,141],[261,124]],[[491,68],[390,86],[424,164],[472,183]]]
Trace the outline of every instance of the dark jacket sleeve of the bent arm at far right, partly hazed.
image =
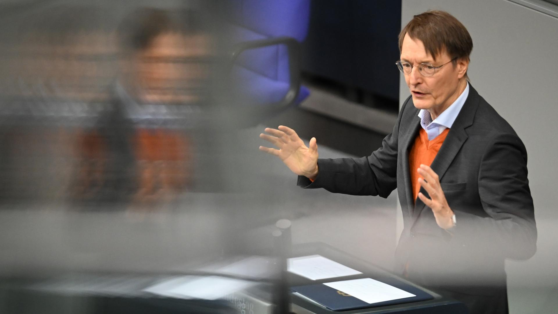
[[480,251],[505,258],[528,259],[535,254],[537,229],[527,151],[516,134],[497,135],[489,142],[479,168],[478,190],[487,216],[455,212],[452,240],[473,240]]

